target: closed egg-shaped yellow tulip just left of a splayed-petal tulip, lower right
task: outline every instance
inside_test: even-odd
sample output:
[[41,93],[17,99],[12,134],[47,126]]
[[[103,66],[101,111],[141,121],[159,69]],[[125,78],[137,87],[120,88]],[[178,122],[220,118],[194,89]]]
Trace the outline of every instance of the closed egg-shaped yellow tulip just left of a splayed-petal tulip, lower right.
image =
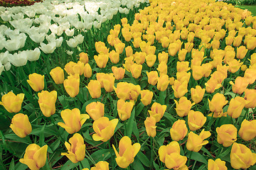
[[171,127],[170,134],[171,139],[175,141],[183,140],[188,133],[188,128],[186,128],[186,121],[178,119]]

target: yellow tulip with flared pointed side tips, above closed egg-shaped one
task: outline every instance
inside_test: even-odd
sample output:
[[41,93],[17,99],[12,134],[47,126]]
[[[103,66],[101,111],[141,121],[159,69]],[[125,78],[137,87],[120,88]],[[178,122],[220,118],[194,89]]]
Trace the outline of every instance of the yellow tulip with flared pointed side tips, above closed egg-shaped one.
[[185,96],[181,97],[178,101],[174,100],[174,102],[176,103],[176,113],[180,117],[188,115],[191,107],[195,104],[191,103]]

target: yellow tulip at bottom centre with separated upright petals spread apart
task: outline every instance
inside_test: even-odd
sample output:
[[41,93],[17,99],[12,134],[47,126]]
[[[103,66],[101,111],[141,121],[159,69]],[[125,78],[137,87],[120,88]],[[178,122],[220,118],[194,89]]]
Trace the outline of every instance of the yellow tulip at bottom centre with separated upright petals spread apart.
[[132,140],[124,136],[119,141],[119,152],[117,152],[117,149],[112,145],[114,149],[114,153],[116,154],[116,162],[117,165],[123,169],[126,169],[129,164],[132,164],[134,162],[134,157],[139,152],[139,149],[141,148],[141,145],[139,143],[134,143],[132,145]]

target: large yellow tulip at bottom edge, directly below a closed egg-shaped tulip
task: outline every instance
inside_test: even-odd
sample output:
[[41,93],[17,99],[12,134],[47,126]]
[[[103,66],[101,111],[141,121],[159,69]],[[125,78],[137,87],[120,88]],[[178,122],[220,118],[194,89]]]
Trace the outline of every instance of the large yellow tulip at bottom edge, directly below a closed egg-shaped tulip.
[[164,162],[168,169],[182,169],[185,166],[187,157],[181,156],[181,148],[178,142],[170,142],[169,145],[163,145],[159,148],[159,159]]

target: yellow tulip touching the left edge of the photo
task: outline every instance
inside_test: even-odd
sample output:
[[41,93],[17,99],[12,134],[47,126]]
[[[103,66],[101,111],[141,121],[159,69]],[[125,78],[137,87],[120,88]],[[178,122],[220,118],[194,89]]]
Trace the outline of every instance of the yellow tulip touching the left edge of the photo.
[[0,105],[4,106],[9,113],[18,113],[21,111],[21,104],[23,102],[24,94],[17,94],[17,96],[10,91],[1,97]]

